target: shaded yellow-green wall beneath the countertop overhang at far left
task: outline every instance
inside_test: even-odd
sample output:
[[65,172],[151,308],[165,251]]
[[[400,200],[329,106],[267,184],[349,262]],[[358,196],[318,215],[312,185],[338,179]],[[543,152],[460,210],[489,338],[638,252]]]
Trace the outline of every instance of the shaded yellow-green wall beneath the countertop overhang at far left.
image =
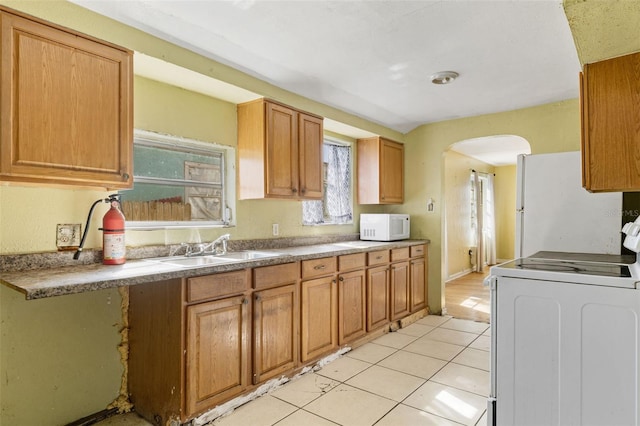
[[0,424],[62,425],[120,389],[117,290],[24,300],[0,286]]

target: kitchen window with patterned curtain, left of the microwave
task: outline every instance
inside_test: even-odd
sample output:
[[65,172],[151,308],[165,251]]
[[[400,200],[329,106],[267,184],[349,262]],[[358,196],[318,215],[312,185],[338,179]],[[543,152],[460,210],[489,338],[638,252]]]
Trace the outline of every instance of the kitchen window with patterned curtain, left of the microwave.
[[302,202],[304,225],[353,222],[351,145],[325,139],[322,150],[324,197]]

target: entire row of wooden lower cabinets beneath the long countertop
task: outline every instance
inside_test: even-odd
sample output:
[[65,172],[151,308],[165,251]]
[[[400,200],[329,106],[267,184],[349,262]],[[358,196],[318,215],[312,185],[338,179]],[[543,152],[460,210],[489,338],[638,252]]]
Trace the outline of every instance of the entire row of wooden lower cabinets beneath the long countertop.
[[129,287],[128,390],[186,423],[427,307],[426,245]]

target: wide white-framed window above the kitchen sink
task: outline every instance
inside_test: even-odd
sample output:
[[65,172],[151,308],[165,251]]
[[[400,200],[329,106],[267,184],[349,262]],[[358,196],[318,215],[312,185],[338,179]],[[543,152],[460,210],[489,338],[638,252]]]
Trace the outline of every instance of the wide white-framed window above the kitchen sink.
[[[229,225],[233,149],[137,130],[133,189],[120,191],[127,228]],[[228,158],[231,157],[231,158]],[[233,163],[232,163],[233,164]]]

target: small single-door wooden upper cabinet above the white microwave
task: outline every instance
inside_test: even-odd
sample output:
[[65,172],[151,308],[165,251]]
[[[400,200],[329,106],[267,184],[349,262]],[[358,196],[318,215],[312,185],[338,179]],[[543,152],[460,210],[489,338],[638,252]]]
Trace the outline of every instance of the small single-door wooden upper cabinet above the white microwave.
[[404,202],[404,145],[382,137],[358,139],[358,203]]

